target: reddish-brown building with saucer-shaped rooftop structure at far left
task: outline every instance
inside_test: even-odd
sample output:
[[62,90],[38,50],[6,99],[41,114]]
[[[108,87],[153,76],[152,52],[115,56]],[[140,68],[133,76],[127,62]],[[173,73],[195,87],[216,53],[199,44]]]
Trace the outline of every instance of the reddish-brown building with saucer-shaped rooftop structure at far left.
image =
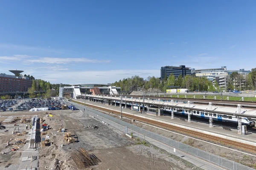
[[32,87],[32,80],[29,77],[19,76],[21,72],[11,70],[15,75],[0,74],[0,92],[28,91]]

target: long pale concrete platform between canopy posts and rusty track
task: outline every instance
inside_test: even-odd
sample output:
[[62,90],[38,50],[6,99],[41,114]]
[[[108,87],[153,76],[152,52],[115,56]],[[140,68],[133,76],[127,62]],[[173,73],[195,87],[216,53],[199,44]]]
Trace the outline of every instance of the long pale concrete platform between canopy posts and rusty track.
[[[79,102],[84,102],[83,99],[76,99],[76,100]],[[104,108],[110,108],[110,109],[113,109],[116,111],[120,111],[119,105],[118,106],[105,105],[105,104],[102,104],[99,102],[92,102],[92,101],[87,101],[87,100],[85,103],[90,104],[90,105],[104,107]],[[219,137],[222,137],[225,139],[230,139],[230,140],[234,140],[237,142],[247,143],[247,144],[256,146],[256,133],[251,132],[251,131],[249,133],[247,133],[246,135],[241,135],[241,134],[238,134],[238,130],[233,127],[231,127],[231,130],[224,130],[221,125],[214,125],[213,127],[209,127],[209,123],[207,123],[207,122],[199,122],[199,121],[191,120],[191,122],[189,123],[186,120],[185,121],[181,120],[179,117],[175,117],[174,119],[171,119],[171,115],[166,115],[166,114],[164,114],[163,116],[153,116],[153,115],[147,114],[146,112],[141,113],[138,111],[133,111],[129,108],[122,108],[122,112],[123,113],[125,113],[125,112],[131,113],[131,114],[134,114],[134,116],[135,115],[144,116],[144,117],[155,119],[155,120],[158,120],[161,122],[163,121],[163,122],[175,124],[182,128],[188,128],[189,130],[195,130],[195,131],[198,131],[201,133],[219,136]],[[231,138],[233,138],[233,139],[231,139]]]

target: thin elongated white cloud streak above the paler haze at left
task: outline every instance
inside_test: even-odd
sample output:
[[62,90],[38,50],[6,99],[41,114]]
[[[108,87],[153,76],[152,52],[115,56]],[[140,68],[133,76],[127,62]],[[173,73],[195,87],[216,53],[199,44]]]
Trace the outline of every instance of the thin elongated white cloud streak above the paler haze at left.
[[51,57],[41,57],[37,59],[28,59],[27,62],[36,63],[48,63],[48,64],[67,64],[70,62],[110,62],[110,60],[98,60],[98,59],[87,59],[87,58],[51,58]]

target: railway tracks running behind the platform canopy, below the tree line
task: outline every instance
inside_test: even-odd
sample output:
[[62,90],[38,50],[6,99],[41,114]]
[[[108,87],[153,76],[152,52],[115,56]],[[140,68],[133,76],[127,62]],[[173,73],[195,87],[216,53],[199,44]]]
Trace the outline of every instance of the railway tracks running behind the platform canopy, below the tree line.
[[[117,95],[119,96],[119,95]],[[125,96],[125,95],[124,95]],[[143,98],[143,96],[132,96],[132,95],[126,95],[127,97],[140,97]],[[248,102],[248,101],[234,101],[234,100],[210,100],[210,99],[191,99],[191,98],[177,98],[177,97],[157,97],[157,96],[145,96],[145,99],[162,99],[162,100],[180,100],[180,101],[193,101],[194,103],[209,103],[212,102],[216,105],[234,105],[237,106],[237,104],[241,104],[244,107],[251,107],[256,108],[256,102]]]

